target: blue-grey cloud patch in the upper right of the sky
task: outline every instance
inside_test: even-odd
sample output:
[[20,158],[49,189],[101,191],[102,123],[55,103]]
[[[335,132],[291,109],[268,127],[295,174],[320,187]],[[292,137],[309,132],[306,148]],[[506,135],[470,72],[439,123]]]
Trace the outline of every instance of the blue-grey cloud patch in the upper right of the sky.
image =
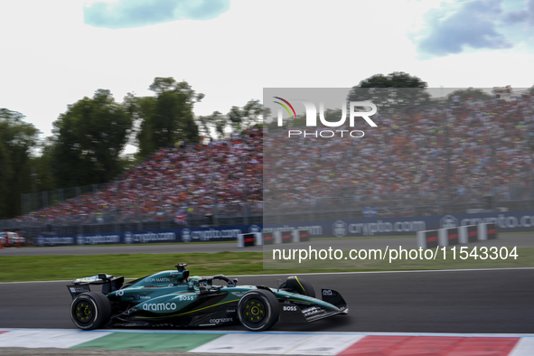
[[441,57],[466,48],[511,48],[512,43],[497,31],[501,16],[501,0],[459,1],[432,9],[416,40],[417,50]]

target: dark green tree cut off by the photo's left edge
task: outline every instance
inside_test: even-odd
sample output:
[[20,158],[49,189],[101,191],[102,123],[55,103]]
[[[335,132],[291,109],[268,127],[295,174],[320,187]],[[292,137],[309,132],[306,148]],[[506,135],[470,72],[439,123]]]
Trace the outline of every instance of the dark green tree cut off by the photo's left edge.
[[20,194],[28,190],[28,161],[39,130],[23,121],[23,114],[0,108],[0,217],[20,214]]

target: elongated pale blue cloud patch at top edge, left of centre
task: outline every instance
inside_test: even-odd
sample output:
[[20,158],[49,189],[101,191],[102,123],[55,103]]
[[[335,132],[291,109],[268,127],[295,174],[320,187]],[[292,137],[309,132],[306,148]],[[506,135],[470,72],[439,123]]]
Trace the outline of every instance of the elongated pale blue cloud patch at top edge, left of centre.
[[176,20],[210,20],[225,13],[230,0],[116,0],[84,5],[84,23],[131,28]]

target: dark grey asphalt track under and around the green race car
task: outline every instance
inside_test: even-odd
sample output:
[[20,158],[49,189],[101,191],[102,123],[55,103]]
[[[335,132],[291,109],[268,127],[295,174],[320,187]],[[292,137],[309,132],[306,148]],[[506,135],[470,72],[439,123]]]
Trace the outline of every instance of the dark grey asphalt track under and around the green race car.
[[[296,271],[295,271],[296,272]],[[194,271],[192,271],[194,273]],[[277,286],[286,276],[241,276]],[[273,330],[383,333],[534,333],[534,269],[302,276],[339,291],[350,313]],[[66,282],[0,284],[0,328],[72,329]],[[240,325],[212,330],[245,330]]]

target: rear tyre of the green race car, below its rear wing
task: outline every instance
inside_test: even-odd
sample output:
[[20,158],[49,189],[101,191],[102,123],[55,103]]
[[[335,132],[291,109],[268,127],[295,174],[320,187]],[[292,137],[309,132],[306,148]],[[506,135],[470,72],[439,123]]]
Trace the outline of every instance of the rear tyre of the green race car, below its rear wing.
[[82,293],[70,304],[70,319],[82,330],[98,329],[111,318],[108,297],[98,292]]

